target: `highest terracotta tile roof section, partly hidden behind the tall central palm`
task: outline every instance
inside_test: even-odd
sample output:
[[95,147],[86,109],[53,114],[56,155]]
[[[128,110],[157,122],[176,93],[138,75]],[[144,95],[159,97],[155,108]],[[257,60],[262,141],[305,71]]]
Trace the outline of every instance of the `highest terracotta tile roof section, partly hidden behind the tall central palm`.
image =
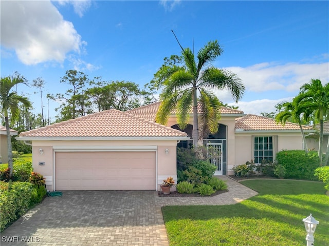
[[[126,112],[128,112],[130,114],[133,114],[133,115],[136,115],[140,118],[149,120],[149,121],[154,121],[155,120],[155,115],[156,115],[156,113],[157,113],[157,111],[160,107],[160,104],[161,104],[161,102],[158,101],[157,103],[142,106],[142,107],[139,107],[139,108],[136,108],[136,109],[126,111]],[[200,103],[198,103],[198,108],[197,109],[198,109],[199,114],[203,113],[203,110],[202,110],[202,107],[201,107]],[[176,110],[172,111],[171,113],[176,114]],[[190,109],[189,113],[190,114],[193,113],[192,108]],[[226,107],[221,107],[221,113],[222,113],[222,116],[225,116],[225,114],[228,114],[228,115],[230,115],[230,114],[243,114],[243,111],[236,110],[236,109],[231,109],[231,108],[226,108]]]

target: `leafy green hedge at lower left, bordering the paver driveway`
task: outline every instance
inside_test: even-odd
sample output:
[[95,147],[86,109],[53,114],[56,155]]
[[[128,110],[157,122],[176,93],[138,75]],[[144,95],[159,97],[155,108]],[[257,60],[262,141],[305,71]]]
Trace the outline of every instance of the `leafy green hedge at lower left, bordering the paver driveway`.
[[33,185],[29,182],[9,182],[8,186],[2,184],[0,193],[0,230],[7,224],[21,217],[29,208]]

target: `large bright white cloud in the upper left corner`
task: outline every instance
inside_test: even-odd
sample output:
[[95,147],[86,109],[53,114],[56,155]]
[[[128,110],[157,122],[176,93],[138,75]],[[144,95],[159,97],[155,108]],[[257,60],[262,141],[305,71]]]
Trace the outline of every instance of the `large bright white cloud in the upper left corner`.
[[2,1],[1,24],[2,48],[14,49],[25,65],[63,63],[86,44],[50,1]]

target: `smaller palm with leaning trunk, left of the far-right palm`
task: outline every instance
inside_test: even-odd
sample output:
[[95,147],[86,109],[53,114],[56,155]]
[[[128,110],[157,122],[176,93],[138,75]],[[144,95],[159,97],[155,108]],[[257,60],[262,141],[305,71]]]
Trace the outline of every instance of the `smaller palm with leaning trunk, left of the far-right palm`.
[[285,125],[286,121],[291,121],[291,122],[297,122],[299,125],[299,128],[301,130],[302,133],[302,137],[303,137],[303,142],[304,142],[304,150],[306,153],[308,153],[308,148],[307,148],[307,143],[306,143],[306,138],[305,138],[305,134],[304,134],[304,130],[302,127],[302,121],[301,118],[296,110],[296,102],[295,98],[293,99],[293,102],[287,102],[287,103],[283,103],[282,107],[281,107],[281,111],[276,115],[276,121],[280,122],[283,126]]

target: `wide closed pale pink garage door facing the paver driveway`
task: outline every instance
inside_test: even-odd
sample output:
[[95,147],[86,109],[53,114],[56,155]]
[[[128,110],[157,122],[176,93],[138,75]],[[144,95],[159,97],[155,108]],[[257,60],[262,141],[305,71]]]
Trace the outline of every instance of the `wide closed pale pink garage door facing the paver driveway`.
[[155,152],[56,152],[55,189],[155,190]]

